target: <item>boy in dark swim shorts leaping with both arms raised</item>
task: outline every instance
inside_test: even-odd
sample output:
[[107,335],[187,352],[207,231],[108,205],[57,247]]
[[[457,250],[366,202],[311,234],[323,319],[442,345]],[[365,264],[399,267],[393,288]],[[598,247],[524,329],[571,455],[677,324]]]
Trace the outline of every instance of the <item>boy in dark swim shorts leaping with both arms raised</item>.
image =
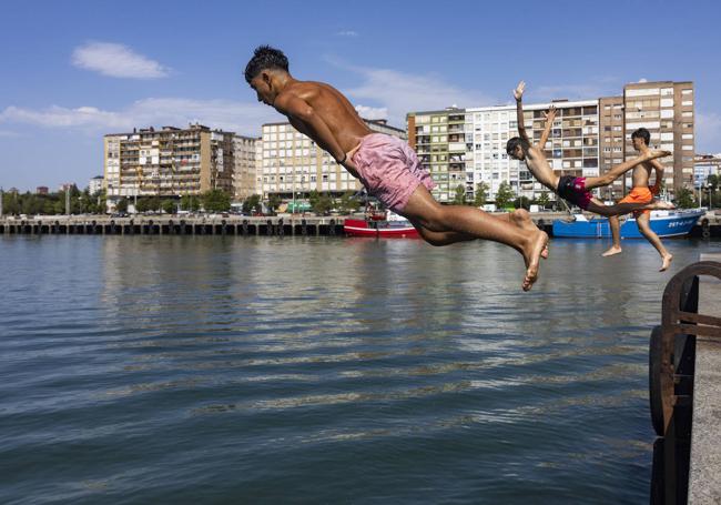
[[521,100],[525,89],[526,83],[521,81],[514,90],[514,97],[516,98],[516,112],[518,117],[518,134],[520,137],[514,137],[512,139],[508,140],[508,143],[506,144],[506,152],[508,152],[509,156],[516,160],[526,161],[528,170],[534,174],[538,182],[557,193],[562,199],[580,206],[582,210],[595,212],[601,215],[610,216],[627,214],[631,211],[641,209],[673,208],[673,205],[667,204],[664,202],[652,201],[646,203],[619,203],[616,205],[605,205],[603,202],[595,198],[590,192],[590,190],[593,188],[610,184],[623,173],[641,163],[654,160],[657,158],[668,156],[671,154],[669,151],[651,151],[647,149],[646,152],[641,153],[641,155],[634,160],[630,160],[617,166],[613,166],[607,173],[598,178],[575,178],[572,175],[558,175],[556,172],[554,172],[554,170],[548,164],[548,160],[546,160],[544,147],[546,145],[551,125],[554,124],[554,119],[556,118],[556,109],[551,107],[551,109],[546,114],[546,128],[544,129],[544,133],[541,134],[538,144],[531,144],[530,139],[526,133],[526,128],[524,127],[524,105],[521,103]]

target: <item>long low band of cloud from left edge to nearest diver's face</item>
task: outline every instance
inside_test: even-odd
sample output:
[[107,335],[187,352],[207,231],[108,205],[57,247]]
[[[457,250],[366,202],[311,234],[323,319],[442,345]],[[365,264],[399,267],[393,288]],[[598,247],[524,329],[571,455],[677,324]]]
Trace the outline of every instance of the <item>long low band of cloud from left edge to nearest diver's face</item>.
[[70,109],[52,105],[42,110],[8,107],[0,123],[23,123],[44,128],[74,128],[88,133],[113,133],[145,127],[185,127],[200,122],[210,128],[260,135],[261,124],[278,121],[273,109],[255,102],[149,98],[119,111],[94,107]]

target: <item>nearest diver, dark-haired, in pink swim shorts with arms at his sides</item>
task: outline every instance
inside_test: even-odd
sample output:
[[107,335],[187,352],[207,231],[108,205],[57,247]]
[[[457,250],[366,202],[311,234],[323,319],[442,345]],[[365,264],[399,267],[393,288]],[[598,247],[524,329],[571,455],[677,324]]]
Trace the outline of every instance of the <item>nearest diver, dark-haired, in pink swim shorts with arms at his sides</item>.
[[395,137],[374,133],[339,91],[323,82],[298,81],[282,51],[258,47],[245,68],[245,80],[258,101],[286,115],[338,164],[359,179],[380,202],[405,216],[433,245],[485,239],[509,245],[526,263],[524,291],[538,276],[539,259],[548,255],[548,235],[526,211],[500,218],[465,205],[440,205],[416,153]]

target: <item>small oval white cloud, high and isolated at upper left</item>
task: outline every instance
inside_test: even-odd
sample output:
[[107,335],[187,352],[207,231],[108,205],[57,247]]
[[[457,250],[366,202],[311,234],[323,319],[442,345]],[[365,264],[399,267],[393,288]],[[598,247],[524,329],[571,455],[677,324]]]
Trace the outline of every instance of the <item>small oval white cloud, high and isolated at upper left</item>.
[[170,72],[170,69],[126,46],[110,42],[89,42],[75,48],[72,64],[113,78],[159,79]]

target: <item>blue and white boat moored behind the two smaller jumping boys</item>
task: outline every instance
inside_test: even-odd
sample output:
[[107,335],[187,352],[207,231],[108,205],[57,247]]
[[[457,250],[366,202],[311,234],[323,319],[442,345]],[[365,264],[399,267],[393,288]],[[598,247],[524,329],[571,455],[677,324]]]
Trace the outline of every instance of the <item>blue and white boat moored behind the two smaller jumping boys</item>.
[[[705,213],[704,209],[651,211],[651,230],[660,238],[683,236],[688,234],[693,225]],[[611,230],[608,219],[587,219],[583,214],[575,214],[575,221],[554,221],[554,236],[570,239],[602,239],[610,238]],[[621,224],[621,239],[642,239],[632,215]]]

